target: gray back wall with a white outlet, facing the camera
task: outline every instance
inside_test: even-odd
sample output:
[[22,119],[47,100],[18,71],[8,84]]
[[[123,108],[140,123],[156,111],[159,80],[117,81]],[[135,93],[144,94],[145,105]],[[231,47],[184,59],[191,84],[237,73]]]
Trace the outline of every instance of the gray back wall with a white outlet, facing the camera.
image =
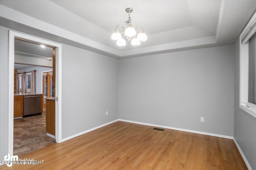
[[119,118],[233,136],[234,46],[120,60]]

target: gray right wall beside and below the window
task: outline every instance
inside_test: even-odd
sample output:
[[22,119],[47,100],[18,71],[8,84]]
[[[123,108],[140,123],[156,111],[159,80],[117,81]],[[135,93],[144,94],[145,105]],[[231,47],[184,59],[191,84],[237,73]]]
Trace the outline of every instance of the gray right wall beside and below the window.
[[239,39],[235,43],[234,138],[251,168],[256,170],[256,118],[239,107]]

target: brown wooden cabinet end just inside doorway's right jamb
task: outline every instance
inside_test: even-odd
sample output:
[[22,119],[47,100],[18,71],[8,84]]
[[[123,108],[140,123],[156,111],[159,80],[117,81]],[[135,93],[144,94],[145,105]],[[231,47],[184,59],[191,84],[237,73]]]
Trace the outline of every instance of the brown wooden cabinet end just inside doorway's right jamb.
[[46,99],[46,131],[55,136],[55,98]]

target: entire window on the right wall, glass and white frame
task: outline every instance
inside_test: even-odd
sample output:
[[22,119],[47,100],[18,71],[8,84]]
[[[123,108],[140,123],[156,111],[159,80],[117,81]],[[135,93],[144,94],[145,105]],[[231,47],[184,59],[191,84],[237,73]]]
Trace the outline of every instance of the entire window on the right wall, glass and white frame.
[[240,35],[240,108],[256,117],[256,13]]

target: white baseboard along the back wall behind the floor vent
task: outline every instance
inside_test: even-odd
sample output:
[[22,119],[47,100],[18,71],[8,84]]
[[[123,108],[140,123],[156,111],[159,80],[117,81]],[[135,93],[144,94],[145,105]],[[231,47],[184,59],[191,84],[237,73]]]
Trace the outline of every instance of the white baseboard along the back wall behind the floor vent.
[[136,123],[136,124],[140,124],[140,125],[162,127],[162,128],[165,128],[165,129],[172,129],[172,130],[177,130],[177,131],[184,131],[184,132],[190,132],[190,133],[198,133],[198,134],[202,134],[202,135],[209,135],[209,136],[214,136],[214,137],[222,137],[222,138],[227,138],[227,139],[234,139],[234,137],[232,137],[232,136],[219,135],[219,134],[215,134],[215,133],[208,133],[208,132],[201,132],[201,131],[192,131],[192,130],[188,130],[188,129],[180,129],[180,128],[177,128],[177,127],[154,125],[154,124],[150,124],[150,123],[142,123],[142,122],[130,121],[130,120],[124,120],[124,119],[118,119],[118,120],[119,121],[129,122],[129,123]]

